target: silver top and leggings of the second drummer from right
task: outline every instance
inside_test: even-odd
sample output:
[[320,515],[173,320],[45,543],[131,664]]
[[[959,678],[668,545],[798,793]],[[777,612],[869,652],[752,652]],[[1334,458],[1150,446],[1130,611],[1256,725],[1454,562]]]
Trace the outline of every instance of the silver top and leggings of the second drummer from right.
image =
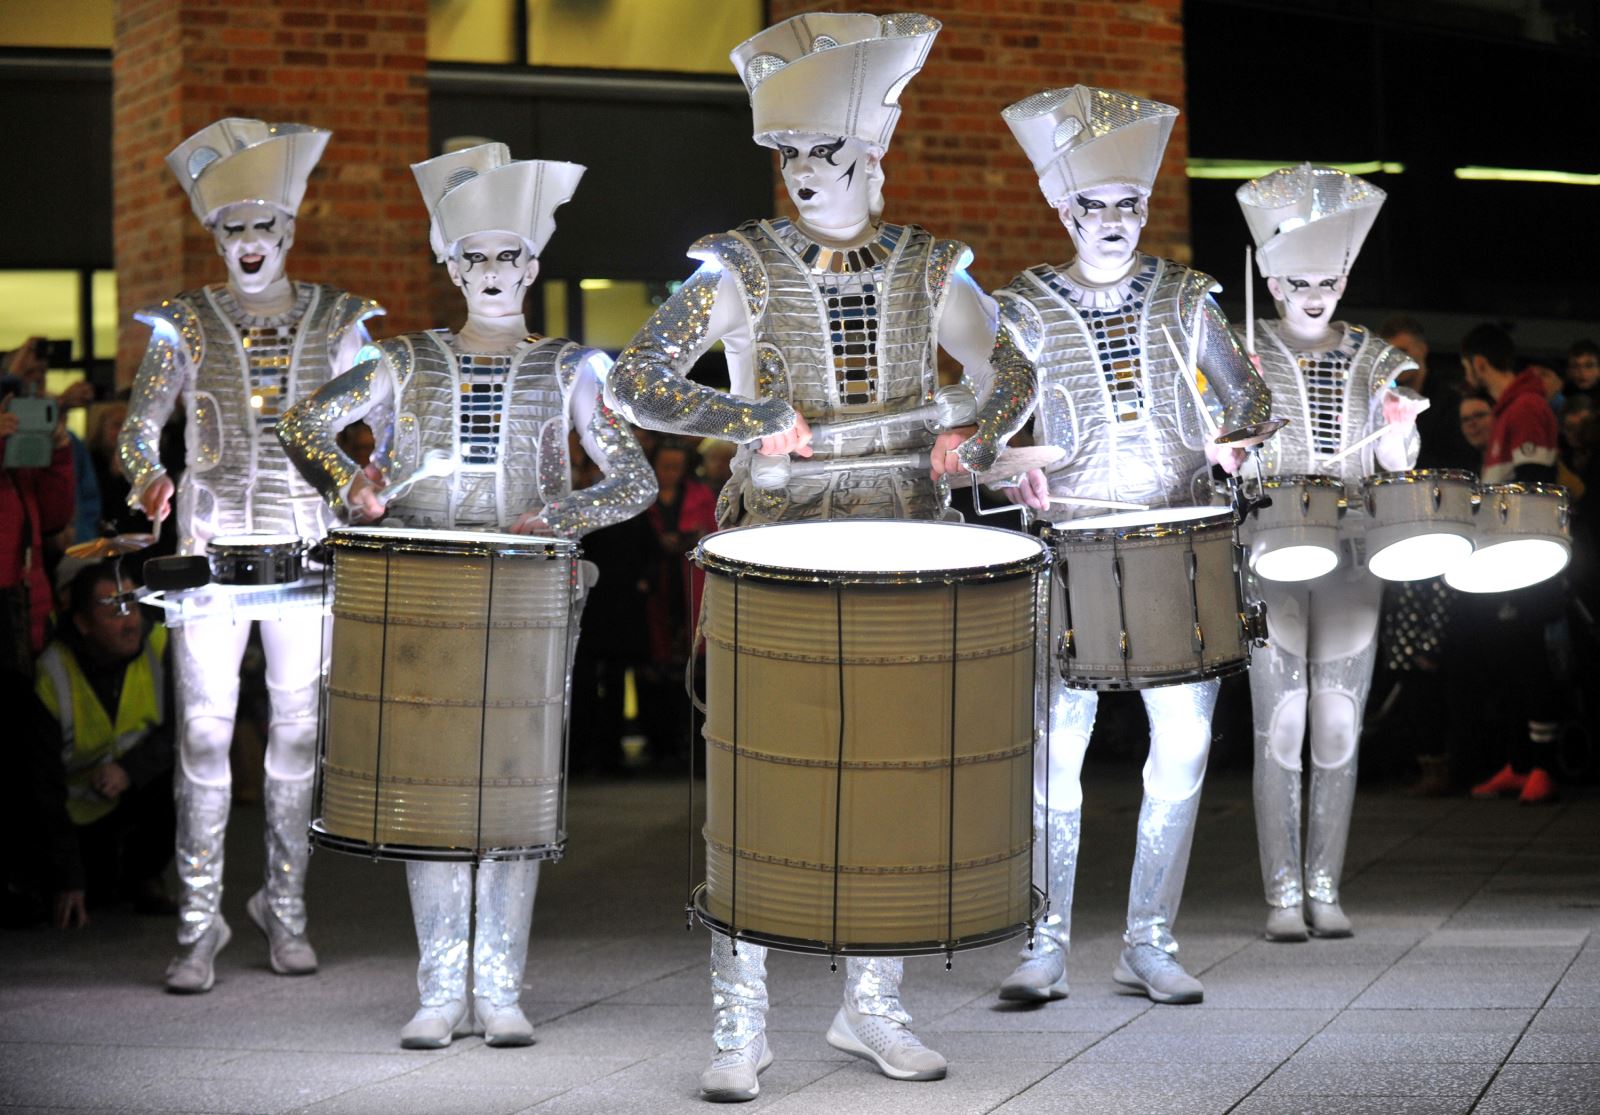
[[[1206,427],[1166,334],[1200,366],[1205,403],[1219,429],[1266,418],[1266,387],[1211,299],[1216,288],[1210,275],[1136,254],[1128,275],[1106,286],[1090,286],[1064,266],[1045,264],[997,291],[1019,326],[1018,342],[1038,366],[1034,440],[1067,453],[1046,472],[1053,494],[1150,507],[1195,502],[1194,480],[1208,475]],[[1058,518],[1091,514],[1051,509]],[[1051,609],[1059,616],[1061,608],[1058,581]],[[1040,875],[1051,891],[1050,917],[1040,925],[1046,955],[1070,944],[1080,771],[1099,702],[1098,693],[1069,689],[1051,673],[1048,745],[1038,750],[1034,776],[1035,841],[1046,856]],[[1214,680],[1142,691],[1150,757],[1128,888],[1128,945],[1178,952],[1171,923],[1189,865],[1216,694]]]

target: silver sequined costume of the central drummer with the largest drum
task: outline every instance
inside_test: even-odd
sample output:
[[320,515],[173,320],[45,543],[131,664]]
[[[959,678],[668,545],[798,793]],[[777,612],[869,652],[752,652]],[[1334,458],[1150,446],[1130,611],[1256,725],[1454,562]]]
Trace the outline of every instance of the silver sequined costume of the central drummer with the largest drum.
[[[704,266],[622,352],[606,392],[642,426],[739,443],[787,430],[795,411],[826,424],[926,403],[939,386],[941,315],[952,286],[971,283],[968,248],[934,240],[917,226],[880,224],[859,248],[840,251],[808,240],[786,219],[752,221],[699,240],[690,254]],[[714,336],[725,277],[739,301],[738,325]],[[1034,368],[1011,331],[992,322],[986,330],[994,333],[989,365],[966,368],[982,403],[978,432],[958,451],[974,470],[994,461],[1034,398]],[[731,395],[683,378],[717,339],[728,352]],[[899,454],[926,450],[933,438],[920,424],[885,424],[821,438],[813,459]],[[926,466],[842,470],[768,491],[752,483],[744,445],[723,488],[718,522],[938,518],[946,498]],[[845,1005],[909,1024],[899,1000],[902,973],[898,957],[850,958]],[[766,1025],[766,949],[734,947],[712,933],[710,982],[717,1048],[747,1046]]]

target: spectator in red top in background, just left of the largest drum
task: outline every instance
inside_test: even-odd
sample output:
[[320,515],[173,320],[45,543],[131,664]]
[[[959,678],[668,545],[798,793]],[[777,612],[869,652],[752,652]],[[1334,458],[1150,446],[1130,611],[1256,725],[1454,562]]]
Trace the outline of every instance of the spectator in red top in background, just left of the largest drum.
[[674,438],[656,443],[650,461],[659,494],[643,518],[653,531],[650,597],[645,621],[650,665],[640,686],[640,720],[658,765],[667,769],[688,760],[688,694],[683,691],[694,624],[699,617],[702,574],[690,555],[717,530],[717,498],[694,478],[694,451]]

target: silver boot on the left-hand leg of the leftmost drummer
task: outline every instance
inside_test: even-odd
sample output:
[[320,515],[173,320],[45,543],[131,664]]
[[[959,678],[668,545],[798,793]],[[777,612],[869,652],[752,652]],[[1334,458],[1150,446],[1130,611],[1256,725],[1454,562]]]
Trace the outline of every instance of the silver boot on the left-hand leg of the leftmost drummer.
[[211,990],[214,960],[232,933],[222,920],[222,835],[232,787],[195,782],[178,774],[178,944],[166,966],[166,989],[179,993]]

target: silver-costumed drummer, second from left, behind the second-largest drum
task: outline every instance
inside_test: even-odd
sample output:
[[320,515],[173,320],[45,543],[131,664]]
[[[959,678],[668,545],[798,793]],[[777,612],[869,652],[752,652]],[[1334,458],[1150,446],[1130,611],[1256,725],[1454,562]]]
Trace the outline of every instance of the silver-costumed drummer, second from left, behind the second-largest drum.
[[[432,216],[434,251],[466,296],[467,323],[459,333],[410,333],[368,347],[362,363],[280,424],[290,458],[333,509],[357,522],[387,514],[406,526],[576,539],[645,510],[656,499],[654,474],[600,397],[606,355],[531,338],[523,322],[555,208],[584,168],[514,162],[504,144],[482,144],[411,170]],[[378,446],[368,470],[336,442],[358,419]],[[571,486],[570,434],[605,474],[579,491]],[[400,494],[400,483],[437,459],[453,466],[450,475],[421,478]],[[387,502],[386,480],[395,488]],[[576,622],[570,635],[576,640]],[[539,862],[491,861],[475,870],[408,862],[406,883],[421,1006],[400,1045],[434,1049],[472,1032],[491,1046],[530,1045],[533,1025],[517,1000]]]

